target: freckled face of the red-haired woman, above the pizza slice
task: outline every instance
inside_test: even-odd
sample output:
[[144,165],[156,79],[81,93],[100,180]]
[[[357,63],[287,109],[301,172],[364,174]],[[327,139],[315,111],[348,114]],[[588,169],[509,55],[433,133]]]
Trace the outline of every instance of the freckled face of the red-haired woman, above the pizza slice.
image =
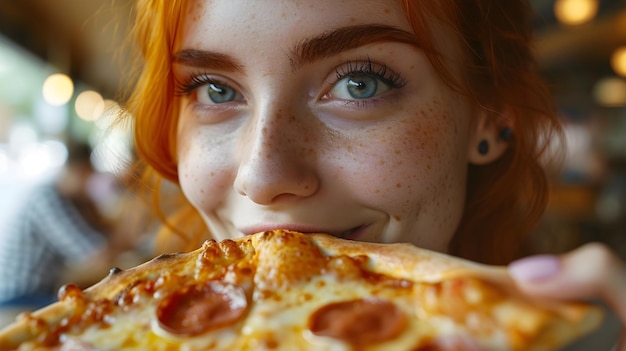
[[[473,110],[413,42],[399,1],[191,1],[186,11],[174,64],[179,178],[216,239],[284,228],[446,250]],[[437,35],[456,60],[450,38]]]

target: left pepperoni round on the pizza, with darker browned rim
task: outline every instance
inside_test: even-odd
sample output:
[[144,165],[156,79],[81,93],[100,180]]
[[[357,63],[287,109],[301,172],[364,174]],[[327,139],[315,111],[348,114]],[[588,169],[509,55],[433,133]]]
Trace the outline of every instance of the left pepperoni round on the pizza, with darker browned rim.
[[156,315],[164,330],[185,336],[206,333],[231,325],[246,312],[248,301],[242,288],[209,282],[192,285],[167,296]]

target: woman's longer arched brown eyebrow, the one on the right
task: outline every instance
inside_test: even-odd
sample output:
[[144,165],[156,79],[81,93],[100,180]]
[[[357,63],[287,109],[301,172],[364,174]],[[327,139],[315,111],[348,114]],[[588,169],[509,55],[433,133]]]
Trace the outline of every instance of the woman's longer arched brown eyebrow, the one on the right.
[[399,42],[419,47],[417,38],[413,33],[386,25],[366,24],[341,27],[305,39],[296,44],[289,54],[289,58],[292,69],[296,70],[324,57],[331,57],[343,51],[381,42]]

